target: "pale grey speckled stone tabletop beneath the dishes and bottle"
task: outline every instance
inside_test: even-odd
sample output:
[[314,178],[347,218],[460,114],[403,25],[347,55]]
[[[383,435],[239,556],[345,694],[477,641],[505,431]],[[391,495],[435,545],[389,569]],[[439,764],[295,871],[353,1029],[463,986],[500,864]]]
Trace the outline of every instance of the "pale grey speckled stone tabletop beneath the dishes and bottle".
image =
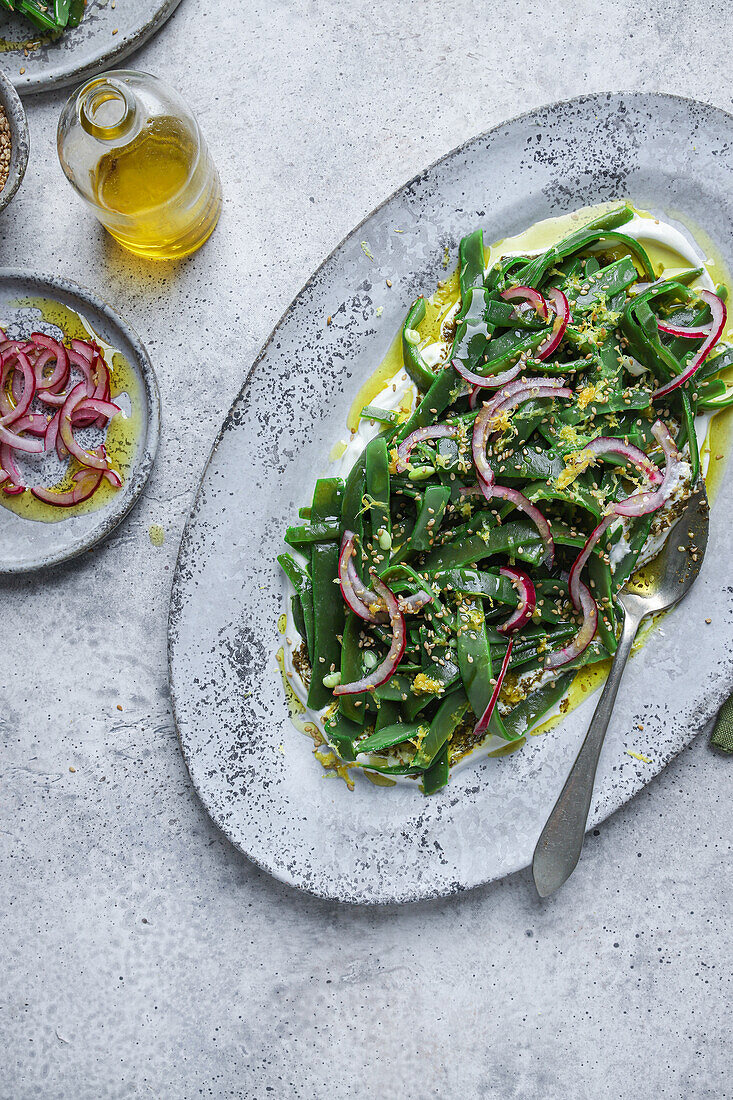
[[209,824],[165,647],[209,444],[320,260],[420,167],[529,107],[613,87],[731,110],[729,6],[206,7],[203,22],[184,0],[134,64],[207,131],[227,196],[210,244],[144,267],[102,235],[55,160],[63,94],[29,101],[29,170],[0,216],[0,262],[109,297],[163,397],[130,520],[74,566],[0,584],[0,1096],[731,1096],[731,763],[704,735],[589,837],[549,903],[522,872],[339,906]]

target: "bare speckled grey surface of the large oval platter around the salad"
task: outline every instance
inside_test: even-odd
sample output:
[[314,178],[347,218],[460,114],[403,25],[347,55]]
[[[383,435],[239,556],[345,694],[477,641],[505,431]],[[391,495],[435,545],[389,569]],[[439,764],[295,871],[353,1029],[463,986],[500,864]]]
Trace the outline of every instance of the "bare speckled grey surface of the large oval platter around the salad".
[[[593,704],[513,756],[463,767],[431,798],[360,776],[349,792],[324,776],[288,718],[275,663],[284,585],[274,559],[344,433],[358,385],[415,295],[435,289],[446,246],[455,261],[459,239],[478,226],[492,241],[628,197],[672,221],[685,211],[730,266],[732,169],[733,119],[701,103],[622,94],[535,110],[401,188],[329,256],[276,327],[225,421],[184,532],[169,661],[193,782],[230,840],[278,879],[325,898],[398,902],[529,864]],[[659,772],[733,684],[732,505],[729,479],[697,586],[626,671],[591,826]]]

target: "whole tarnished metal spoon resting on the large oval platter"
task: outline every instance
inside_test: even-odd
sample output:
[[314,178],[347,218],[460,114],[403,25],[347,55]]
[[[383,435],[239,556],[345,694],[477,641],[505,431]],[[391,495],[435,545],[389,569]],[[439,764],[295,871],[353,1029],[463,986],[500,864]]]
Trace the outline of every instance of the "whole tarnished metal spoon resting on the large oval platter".
[[595,769],[634,639],[648,615],[674,607],[694,584],[708,544],[708,512],[704,485],[700,484],[661,551],[645,568],[643,578],[632,576],[617,597],[624,609],[624,625],[609,679],[586,740],[535,848],[532,873],[540,898],[558,890],[580,859]]

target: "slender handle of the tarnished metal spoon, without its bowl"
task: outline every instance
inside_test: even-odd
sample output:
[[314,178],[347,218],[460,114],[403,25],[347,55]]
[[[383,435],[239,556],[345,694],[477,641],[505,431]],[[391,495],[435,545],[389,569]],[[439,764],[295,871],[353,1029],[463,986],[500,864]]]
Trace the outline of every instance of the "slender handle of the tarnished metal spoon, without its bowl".
[[619,648],[603,693],[588,727],[586,740],[537,842],[532,861],[532,873],[540,898],[547,898],[555,890],[558,890],[570,878],[580,859],[588,813],[593,796],[595,769],[611,719],[613,704],[616,701],[619,684],[624,674],[624,668],[642,617],[637,617],[628,608],[625,610]]

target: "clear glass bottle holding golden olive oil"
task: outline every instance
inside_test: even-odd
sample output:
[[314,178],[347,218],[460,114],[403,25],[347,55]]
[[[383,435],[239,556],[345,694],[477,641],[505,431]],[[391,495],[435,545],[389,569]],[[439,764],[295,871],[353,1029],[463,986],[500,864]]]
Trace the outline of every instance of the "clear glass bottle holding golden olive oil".
[[144,73],[87,81],[58,124],[62,167],[130,252],[190,255],[214,232],[221,186],[198,123],[173,89]]

